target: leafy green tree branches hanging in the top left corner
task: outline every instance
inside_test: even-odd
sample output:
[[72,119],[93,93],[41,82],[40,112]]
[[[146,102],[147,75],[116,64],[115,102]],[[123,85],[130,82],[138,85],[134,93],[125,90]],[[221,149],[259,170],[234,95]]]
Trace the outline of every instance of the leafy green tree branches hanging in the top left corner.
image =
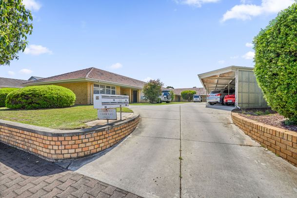
[[9,65],[24,51],[27,36],[32,34],[33,20],[22,0],[0,0],[0,65]]

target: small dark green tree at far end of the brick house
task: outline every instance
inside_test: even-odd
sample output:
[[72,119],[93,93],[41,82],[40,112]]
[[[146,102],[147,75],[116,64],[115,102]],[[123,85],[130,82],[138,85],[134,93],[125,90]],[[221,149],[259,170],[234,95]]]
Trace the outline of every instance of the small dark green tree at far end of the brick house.
[[142,92],[144,97],[149,100],[150,103],[157,101],[158,97],[161,95],[163,85],[160,79],[150,80],[143,86]]

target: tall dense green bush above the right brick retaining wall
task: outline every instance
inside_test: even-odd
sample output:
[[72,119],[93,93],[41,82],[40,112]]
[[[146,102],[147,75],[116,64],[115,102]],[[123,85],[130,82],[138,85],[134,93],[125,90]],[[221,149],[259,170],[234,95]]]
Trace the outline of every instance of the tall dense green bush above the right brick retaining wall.
[[297,121],[297,4],[281,11],[254,44],[255,75],[268,105]]

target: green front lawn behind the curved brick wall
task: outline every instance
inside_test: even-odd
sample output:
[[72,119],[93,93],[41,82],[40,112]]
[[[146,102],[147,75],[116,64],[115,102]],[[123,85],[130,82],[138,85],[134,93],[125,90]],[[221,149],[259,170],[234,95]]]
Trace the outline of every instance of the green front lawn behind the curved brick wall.
[[[119,112],[119,108],[117,109]],[[133,112],[122,108],[122,112]],[[0,108],[0,119],[51,129],[83,129],[84,123],[97,119],[97,110],[93,105],[77,105],[68,108],[11,110]]]

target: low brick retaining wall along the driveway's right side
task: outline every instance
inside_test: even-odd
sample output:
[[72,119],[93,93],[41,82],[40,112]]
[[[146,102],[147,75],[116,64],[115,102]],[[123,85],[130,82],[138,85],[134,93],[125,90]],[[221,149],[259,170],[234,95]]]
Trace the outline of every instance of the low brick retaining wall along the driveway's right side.
[[266,125],[235,112],[232,120],[245,134],[297,167],[297,132]]

